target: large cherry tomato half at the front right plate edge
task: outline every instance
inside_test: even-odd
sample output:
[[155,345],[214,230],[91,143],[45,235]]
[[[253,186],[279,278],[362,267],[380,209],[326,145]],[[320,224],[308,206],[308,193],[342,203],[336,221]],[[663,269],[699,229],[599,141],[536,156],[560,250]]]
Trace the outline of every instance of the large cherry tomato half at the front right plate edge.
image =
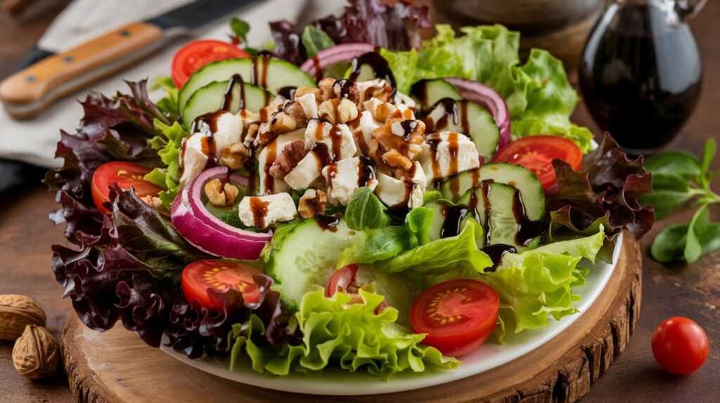
[[427,333],[423,344],[446,356],[464,356],[490,338],[498,323],[500,297],[492,287],[472,279],[435,284],[410,307],[410,326]]

